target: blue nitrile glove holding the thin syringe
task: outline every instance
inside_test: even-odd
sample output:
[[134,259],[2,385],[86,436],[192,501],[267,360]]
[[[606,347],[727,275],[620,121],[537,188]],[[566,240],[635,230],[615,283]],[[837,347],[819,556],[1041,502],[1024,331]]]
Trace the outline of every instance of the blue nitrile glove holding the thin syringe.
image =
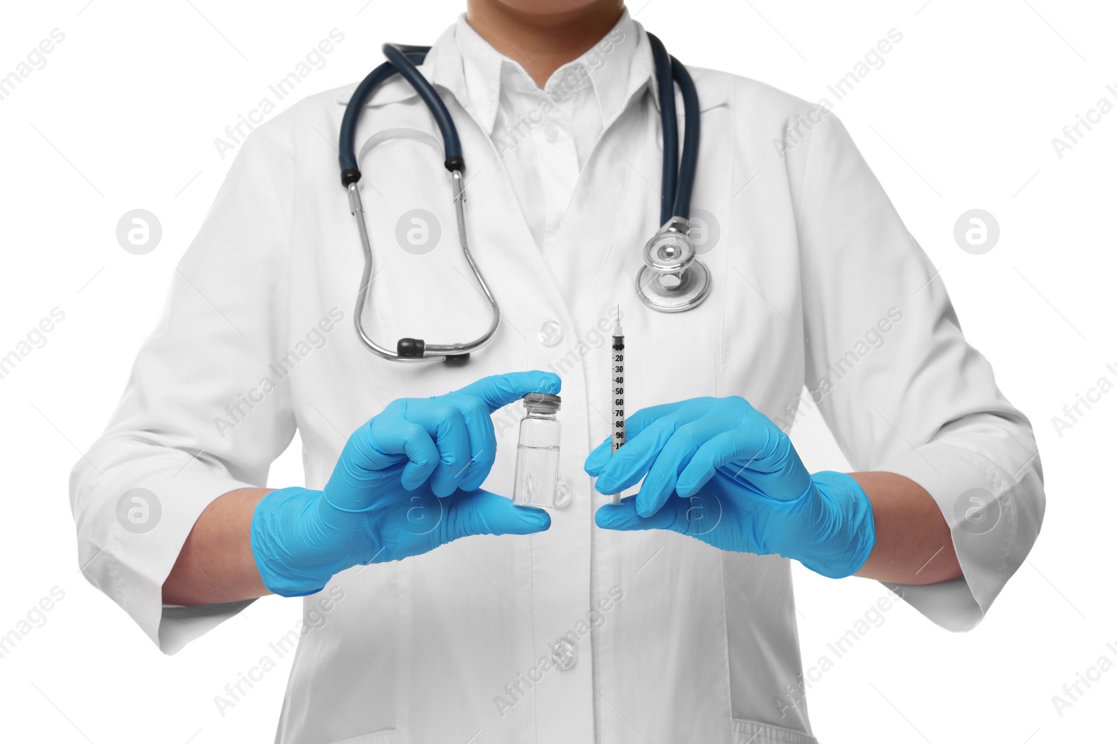
[[744,398],[695,398],[637,412],[615,454],[585,461],[605,504],[598,526],[672,530],[722,550],[779,553],[833,579],[857,572],[876,543],[872,505],[843,473],[806,472],[787,435]]

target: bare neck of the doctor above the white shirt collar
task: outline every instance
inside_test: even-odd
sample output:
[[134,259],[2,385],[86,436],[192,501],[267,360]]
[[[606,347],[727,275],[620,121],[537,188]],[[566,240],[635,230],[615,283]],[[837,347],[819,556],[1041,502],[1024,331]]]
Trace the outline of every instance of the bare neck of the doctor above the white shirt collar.
[[468,0],[466,20],[494,49],[523,65],[541,88],[552,73],[601,41],[624,12],[623,0],[591,0],[560,12],[512,6],[507,0]]

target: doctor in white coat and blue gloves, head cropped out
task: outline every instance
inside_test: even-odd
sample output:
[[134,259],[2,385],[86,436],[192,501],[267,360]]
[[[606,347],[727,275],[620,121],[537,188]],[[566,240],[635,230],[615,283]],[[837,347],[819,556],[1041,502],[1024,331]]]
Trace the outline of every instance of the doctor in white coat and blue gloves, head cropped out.
[[[469,164],[495,338],[464,366],[364,348],[334,147],[355,86],[276,116],[239,146],[74,468],[94,584],[168,654],[257,597],[305,596],[324,621],[279,742],[809,744],[786,695],[789,559],[901,584],[951,630],[981,620],[1039,532],[1035,443],[833,114],[690,69],[713,283],[668,315],[634,294],[662,133],[649,40],[619,1],[472,0],[420,69]],[[392,128],[439,135],[399,77],[356,141]],[[394,137],[360,165],[365,329],[481,335],[442,157]],[[641,410],[610,455],[618,301]],[[560,388],[562,508],[515,508],[509,404]],[[860,472],[803,466],[782,429],[815,407]],[[305,487],[264,489],[296,431]],[[117,518],[136,489],[159,505],[147,531]]]

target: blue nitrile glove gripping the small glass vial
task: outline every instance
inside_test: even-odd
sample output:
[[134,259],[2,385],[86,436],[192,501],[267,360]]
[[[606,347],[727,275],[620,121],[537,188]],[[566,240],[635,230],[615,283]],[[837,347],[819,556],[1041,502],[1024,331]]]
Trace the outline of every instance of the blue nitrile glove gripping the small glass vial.
[[280,489],[252,515],[268,590],[319,591],[352,566],[394,561],[474,534],[551,526],[543,510],[483,491],[496,458],[490,415],[528,393],[558,393],[543,371],[485,377],[431,398],[393,400],[350,436],[324,491]]

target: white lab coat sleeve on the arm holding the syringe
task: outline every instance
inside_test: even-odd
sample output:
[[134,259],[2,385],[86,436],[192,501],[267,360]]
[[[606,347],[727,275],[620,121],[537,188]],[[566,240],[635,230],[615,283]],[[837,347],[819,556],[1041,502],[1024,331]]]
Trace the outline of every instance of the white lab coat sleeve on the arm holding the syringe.
[[968,630],[1039,533],[1044,496],[1031,426],[966,342],[943,277],[842,124],[828,114],[809,142],[789,156],[804,404],[820,408],[857,470],[898,473],[935,499],[964,577],[898,590],[936,624]]

